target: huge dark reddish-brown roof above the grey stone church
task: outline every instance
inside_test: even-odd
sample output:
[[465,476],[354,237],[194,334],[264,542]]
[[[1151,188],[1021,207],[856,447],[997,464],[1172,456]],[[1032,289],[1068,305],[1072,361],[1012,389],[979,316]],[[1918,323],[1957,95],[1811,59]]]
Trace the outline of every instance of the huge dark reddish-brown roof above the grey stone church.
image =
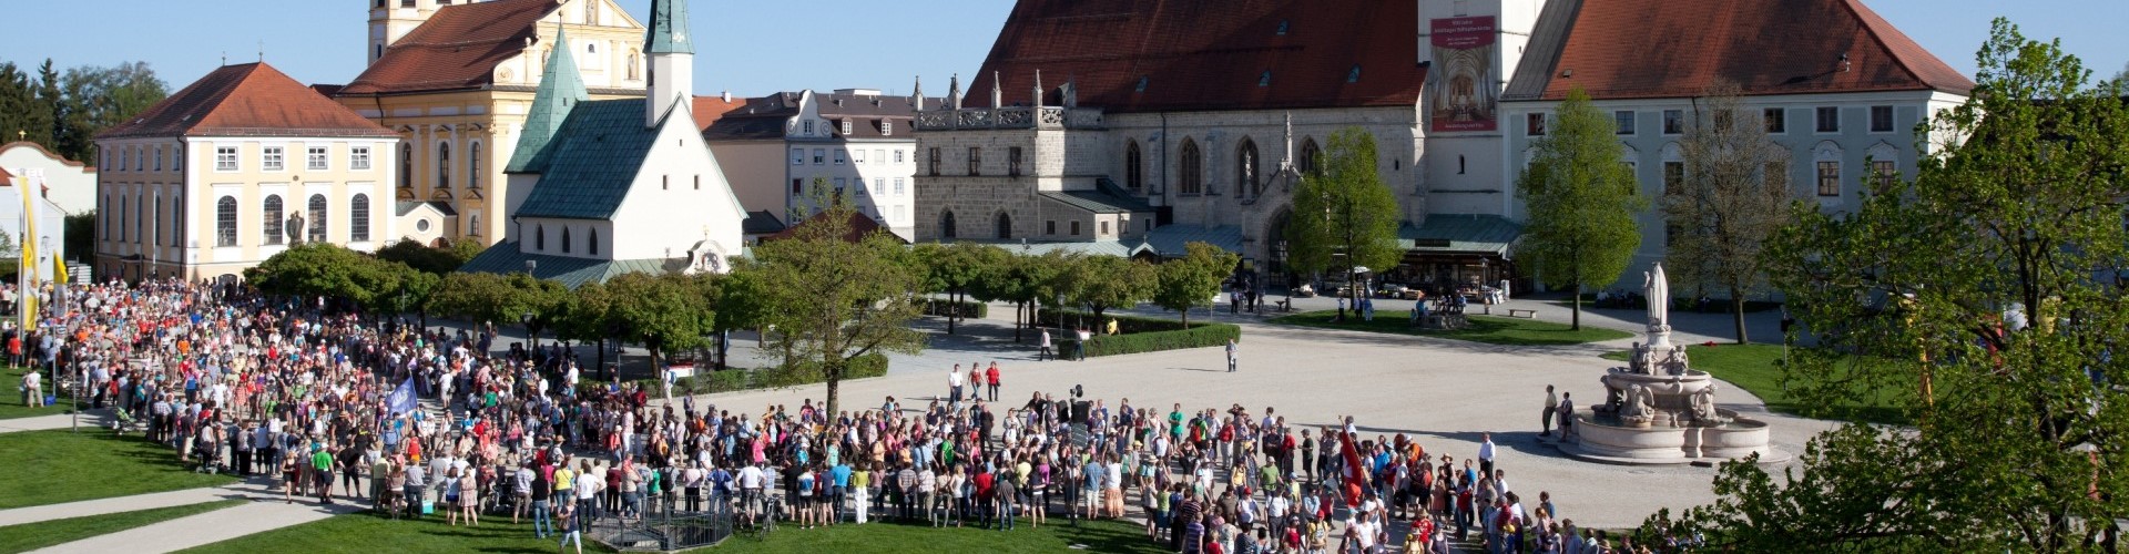
[[1418,21],[1412,0],[1020,0],[962,77],[971,107],[990,104],[992,72],[1005,104],[1026,104],[1037,70],[1045,104],[1075,81],[1079,104],[1109,113],[1414,107]]

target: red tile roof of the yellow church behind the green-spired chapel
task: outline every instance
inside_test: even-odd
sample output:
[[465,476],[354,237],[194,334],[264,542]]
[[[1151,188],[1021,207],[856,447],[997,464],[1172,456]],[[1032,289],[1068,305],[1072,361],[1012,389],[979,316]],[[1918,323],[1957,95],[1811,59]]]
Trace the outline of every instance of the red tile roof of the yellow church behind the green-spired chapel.
[[385,47],[341,94],[477,89],[494,83],[496,64],[526,51],[554,0],[494,0],[436,9],[419,28]]

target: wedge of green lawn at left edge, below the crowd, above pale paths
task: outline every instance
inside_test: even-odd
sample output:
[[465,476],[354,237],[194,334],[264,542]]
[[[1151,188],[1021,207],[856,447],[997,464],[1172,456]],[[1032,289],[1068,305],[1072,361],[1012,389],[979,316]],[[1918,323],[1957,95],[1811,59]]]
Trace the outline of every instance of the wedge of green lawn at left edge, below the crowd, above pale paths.
[[0,509],[221,486],[230,475],[192,473],[177,450],[115,437],[109,428],[0,433]]

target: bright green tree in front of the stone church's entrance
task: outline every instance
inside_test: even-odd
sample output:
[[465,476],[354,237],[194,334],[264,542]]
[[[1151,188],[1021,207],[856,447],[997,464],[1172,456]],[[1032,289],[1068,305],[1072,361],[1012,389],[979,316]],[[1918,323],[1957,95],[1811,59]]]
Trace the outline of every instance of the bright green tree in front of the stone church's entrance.
[[[1352,268],[1380,271],[1405,256],[1405,247],[1397,243],[1397,194],[1382,183],[1375,136],[1367,130],[1333,132],[1322,156],[1318,173],[1303,175],[1294,188],[1286,262],[1305,273],[1343,271],[1346,290],[1352,290]],[[1346,309],[1339,307],[1339,320],[1343,317]]]

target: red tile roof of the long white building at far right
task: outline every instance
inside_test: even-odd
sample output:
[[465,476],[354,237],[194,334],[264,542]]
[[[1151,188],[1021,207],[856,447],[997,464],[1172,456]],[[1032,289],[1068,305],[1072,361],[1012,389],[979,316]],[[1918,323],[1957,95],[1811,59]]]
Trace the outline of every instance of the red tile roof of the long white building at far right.
[[1861,0],[1582,0],[1573,17],[1544,100],[1571,87],[1592,98],[1680,98],[1716,81],[1744,94],[1974,89]]

